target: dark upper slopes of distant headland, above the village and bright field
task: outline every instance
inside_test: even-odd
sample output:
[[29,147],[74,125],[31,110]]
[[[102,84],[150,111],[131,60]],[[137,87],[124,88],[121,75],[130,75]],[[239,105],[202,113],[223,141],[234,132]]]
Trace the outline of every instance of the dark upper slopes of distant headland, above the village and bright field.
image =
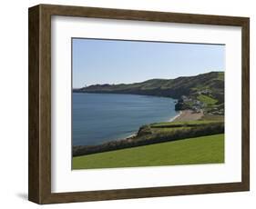
[[176,79],[151,79],[129,85],[89,85],[73,91],[85,93],[160,95],[179,99],[181,95],[192,95],[203,90],[210,90],[213,97],[222,100],[224,94],[224,73],[210,72],[202,75],[182,76]]

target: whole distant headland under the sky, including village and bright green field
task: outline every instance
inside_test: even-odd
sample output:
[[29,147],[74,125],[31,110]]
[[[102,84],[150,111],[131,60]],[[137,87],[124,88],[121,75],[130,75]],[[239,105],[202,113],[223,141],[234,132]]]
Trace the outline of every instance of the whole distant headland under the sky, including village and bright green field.
[[224,72],[175,79],[151,79],[128,85],[89,85],[74,89],[73,92],[166,96],[178,99],[176,110],[224,114]]

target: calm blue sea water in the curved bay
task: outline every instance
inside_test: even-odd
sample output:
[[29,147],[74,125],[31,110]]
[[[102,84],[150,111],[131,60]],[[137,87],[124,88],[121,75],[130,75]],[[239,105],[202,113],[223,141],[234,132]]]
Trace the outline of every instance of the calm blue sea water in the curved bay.
[[175,100],[148,95],[73,93],[73,145],[101,144],[135,134],[143,124],[179,114]]

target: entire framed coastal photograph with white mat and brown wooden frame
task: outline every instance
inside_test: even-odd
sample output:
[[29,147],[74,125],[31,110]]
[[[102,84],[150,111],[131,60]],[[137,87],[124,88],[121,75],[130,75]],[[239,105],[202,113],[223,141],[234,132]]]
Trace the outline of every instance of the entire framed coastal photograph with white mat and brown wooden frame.
[[249,18],[29,8],[37,204],[250,189]]

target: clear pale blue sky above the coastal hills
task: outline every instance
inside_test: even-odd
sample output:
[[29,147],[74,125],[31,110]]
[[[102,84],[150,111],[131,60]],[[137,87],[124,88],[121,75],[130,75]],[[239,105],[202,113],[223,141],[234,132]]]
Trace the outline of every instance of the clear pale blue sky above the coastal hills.
[[225,45],[73,38],[73,87],[224,71]]

